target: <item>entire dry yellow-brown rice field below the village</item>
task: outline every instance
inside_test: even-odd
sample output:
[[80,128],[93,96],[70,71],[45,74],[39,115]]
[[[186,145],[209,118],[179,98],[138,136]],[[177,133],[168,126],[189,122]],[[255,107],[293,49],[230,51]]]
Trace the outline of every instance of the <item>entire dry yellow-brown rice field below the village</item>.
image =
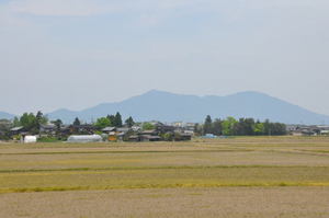
[[328,218],[329,137],[0,144],[1,218]]

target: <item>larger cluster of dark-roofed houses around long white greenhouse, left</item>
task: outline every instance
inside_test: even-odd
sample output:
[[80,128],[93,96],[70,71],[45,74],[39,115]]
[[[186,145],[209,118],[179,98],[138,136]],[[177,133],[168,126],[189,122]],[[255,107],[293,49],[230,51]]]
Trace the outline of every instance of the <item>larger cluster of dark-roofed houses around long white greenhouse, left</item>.
[[[41,125],[41,137],[57,137],[69,142],[89,141],[184,141],[191,140],[194,135],[194,124],[189,125],[166,125],[159,122],[152,123],[154,128],[145,130],[140,126],[133,127],[105,127],[98,128],[91,124],[83,125]],[[12,136],[20,136],[20,140],[34,142],[31,134],[24,127],[10,129]],[[35,140],[36,140],[35,138]],[[26,141],[29,139],[29,141]],[[32,141],[31,141],[32,140]]]

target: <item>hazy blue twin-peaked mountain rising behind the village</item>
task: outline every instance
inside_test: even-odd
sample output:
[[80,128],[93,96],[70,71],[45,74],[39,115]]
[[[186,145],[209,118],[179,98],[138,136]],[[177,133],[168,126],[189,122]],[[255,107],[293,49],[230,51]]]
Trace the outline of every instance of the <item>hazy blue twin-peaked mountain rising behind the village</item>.
[[84,122],[120,112],[136,121],[203,122],[206,115],[225,118],[253,117],[286,124],[329,124],[320,115],[259,92],[241,92],[227,96],[195,96],[152,90],[118,103],[104,103],[83,111],[59,110],[48,114],[52,119],[71,123],[75,117]]

